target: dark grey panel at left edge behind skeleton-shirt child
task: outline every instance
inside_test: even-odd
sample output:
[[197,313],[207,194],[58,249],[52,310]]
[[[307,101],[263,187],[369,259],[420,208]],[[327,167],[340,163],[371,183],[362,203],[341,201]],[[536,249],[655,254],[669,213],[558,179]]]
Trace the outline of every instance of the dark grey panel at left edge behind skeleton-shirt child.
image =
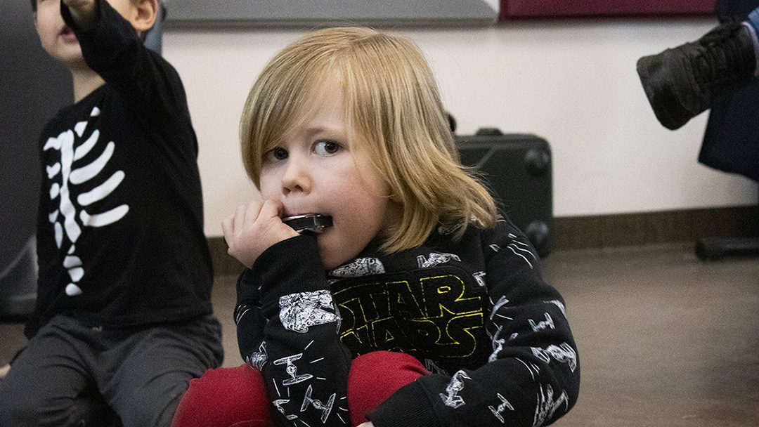
[[39,46],[29,2],[0,2],[0,318],[33,306],[37,138],[74,99],[71,74]]

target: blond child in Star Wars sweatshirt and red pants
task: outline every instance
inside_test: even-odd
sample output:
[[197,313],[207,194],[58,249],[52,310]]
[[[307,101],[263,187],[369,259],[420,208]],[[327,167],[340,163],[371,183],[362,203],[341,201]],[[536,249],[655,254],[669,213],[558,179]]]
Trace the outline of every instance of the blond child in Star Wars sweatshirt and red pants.
[[[175,425],[206,425],[198,403],[231,413],[247,400],[265,409],[207,425],[539,426],[573,406],[562,297],[458,162],[412,42],[307,34],[251,89],[241,140],[262,199],[222,228],[247,266],[235,321],[248,366],[194,380]],[[332,226],[282,221],[308,213]]]

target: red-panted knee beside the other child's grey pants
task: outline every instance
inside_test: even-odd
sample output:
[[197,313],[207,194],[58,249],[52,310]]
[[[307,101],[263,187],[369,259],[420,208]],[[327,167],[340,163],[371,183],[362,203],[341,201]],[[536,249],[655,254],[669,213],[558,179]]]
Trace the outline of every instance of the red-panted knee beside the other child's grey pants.
[[209,369],[190,381],[172,427],[273,427],[271,407],[256,369]]

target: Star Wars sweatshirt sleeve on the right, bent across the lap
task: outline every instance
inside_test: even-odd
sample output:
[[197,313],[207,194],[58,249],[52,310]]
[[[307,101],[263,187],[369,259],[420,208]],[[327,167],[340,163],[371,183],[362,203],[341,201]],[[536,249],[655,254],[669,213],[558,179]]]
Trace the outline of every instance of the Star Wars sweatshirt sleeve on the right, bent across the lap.
[[580,366],[564,300],[541,278],[534,248],[500,221],[483,244],[490,297],[487,363],[430,374],[392,394],[369,418],[376,427],[540,427],[568,412]]

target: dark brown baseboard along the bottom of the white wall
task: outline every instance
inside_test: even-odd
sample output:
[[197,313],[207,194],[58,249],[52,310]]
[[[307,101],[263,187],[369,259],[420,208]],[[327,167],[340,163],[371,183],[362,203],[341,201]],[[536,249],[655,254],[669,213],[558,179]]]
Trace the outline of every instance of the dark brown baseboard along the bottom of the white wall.
[[[702,237],[759,237],[759,206],[558,217],[551,250],[693,242]],[[216,275],[238,275],[223,237],[209,237]]]

